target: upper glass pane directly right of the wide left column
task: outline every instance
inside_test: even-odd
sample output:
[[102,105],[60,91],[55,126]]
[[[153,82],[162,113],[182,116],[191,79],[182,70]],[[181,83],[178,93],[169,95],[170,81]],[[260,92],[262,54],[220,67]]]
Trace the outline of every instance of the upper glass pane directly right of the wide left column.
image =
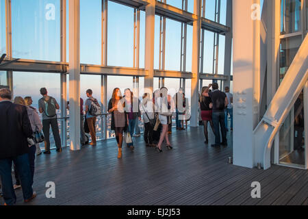
[[80,62],[101,64],[101,0],[80,1]]

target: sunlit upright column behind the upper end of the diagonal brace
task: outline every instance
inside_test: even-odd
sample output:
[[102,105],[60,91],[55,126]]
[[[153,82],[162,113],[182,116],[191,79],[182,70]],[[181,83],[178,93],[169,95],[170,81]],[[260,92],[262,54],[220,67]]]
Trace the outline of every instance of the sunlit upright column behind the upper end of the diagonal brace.
[[267,64],[267,105],[279,86],[279,44],[280,44],[280,0],[267,2],[268,5],[268,64]]

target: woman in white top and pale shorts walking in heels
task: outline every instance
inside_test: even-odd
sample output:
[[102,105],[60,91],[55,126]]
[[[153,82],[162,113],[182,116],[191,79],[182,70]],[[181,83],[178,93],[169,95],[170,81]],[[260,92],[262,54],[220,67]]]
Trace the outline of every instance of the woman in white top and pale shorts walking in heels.
[[157,105],[159,106],[159,120],[162,123],[162,133],[159,138],[159,142],[156,146],[157,151],[162,152],[162,143],[166,140],[166,147],[170,150],[172,146],[168,138],[168,124],[171,121],[168,121],[168,116],[172,116],[172,113],[175,112],[175,103],[173,99],[170,99],[168,103],[168,89],[160,88],[160,97],[157,99]]

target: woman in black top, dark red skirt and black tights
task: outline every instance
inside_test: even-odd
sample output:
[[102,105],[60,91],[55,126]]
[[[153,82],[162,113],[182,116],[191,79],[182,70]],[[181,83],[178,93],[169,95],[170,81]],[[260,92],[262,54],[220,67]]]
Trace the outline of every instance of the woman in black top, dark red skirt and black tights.
[[199,105],[201,109],[201,118],[203,121],[203,127],[204,127],[204,136],[205,136],[205,144],[209,144],[209,133],[207,131],[207,123],[209,122],[209,125],[211,125],[211,130],[214,133],[214,124],[211,120],[211,114],[212,114],[212,107],[213,103],[211,102],[211,98],[209,96],[205,96],[205,94],[208,92],[208,87],[203,87],[201,90],[201,95],[199,99]]

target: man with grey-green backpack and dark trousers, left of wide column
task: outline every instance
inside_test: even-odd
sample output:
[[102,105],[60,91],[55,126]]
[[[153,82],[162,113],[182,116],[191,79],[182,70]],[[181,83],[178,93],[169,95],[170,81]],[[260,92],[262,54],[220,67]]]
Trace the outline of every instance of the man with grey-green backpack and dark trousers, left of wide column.
[[55,139],[55,146],[57,152],[62,152],[61,149],[61,138],[59,133],[59,126],[57,125],[57,112],[60,109],[57,101],[52,97],[48,96],[46,88],[40,88],[40,94],[42,98],[38,100],[38,110],[42,114],[42,125],[45,140],[45,151],[44,154],[50,154],[50,142],[49,142],[49,128],[53,131],[53,138]]

